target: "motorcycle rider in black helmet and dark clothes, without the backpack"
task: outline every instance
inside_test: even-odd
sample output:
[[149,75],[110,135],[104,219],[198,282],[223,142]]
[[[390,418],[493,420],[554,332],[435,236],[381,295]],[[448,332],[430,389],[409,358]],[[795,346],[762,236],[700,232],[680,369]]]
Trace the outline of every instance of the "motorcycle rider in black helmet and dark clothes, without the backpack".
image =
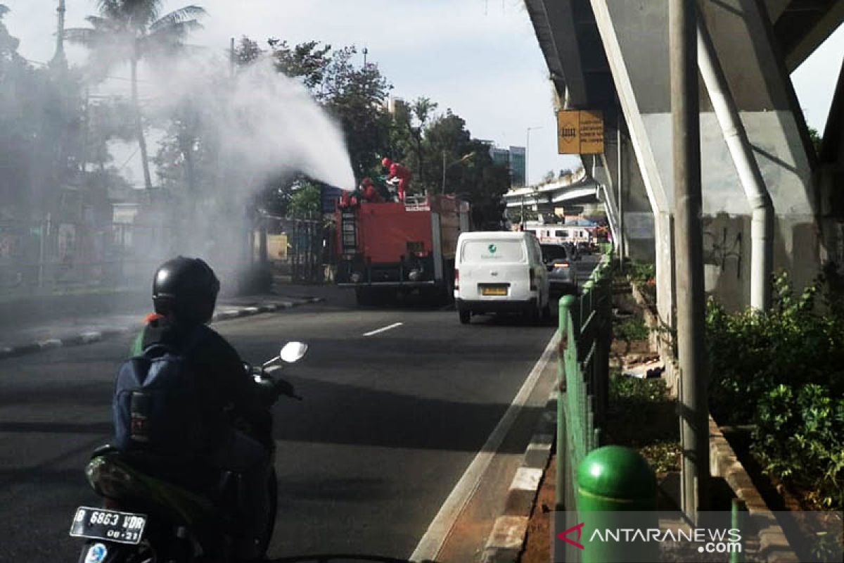
[[186,357],[197,378],[196,400],[205,432],[200,443],[185,445],[184,457],[241,475],[242,537],[235,553],[243,560],[262,560],[259,543],[269,522],[272,460],[260,442],[232,426],[231,414],[250,420],[265,412],[283,390],[257,385],[235,349],[208,328],[218,292],[214,270],[199,258],[180,256],[161,264],[153,280],[155,312],[147,317],[132,355],[141,355],[153,344],[166,344]]

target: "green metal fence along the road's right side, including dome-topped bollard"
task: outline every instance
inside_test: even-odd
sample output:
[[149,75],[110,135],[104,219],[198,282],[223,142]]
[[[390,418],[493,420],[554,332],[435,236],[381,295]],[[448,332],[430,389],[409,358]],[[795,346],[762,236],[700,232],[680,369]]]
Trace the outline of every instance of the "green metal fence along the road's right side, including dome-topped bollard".
[[[647,512],[647,523],[657,525],[657,484],[645,458],[628,447],[602,447],[613,340],[612,246],[602,245],[601,251],[581,294],[560,299],[555,531],[564,535],[582,528],[585,520],[596,528],[612,528],[619,511]],[[588,549],[576,549],[560,541],[553,544],[552,560],[656,560],[656,545],[590,543]]]

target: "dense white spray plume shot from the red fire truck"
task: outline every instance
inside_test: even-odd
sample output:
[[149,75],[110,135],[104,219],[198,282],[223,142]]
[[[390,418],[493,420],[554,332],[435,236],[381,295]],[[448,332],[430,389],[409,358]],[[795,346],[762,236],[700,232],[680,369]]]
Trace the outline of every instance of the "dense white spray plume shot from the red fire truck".
[[180,106],[197,109],[219,154],[214,180],[206,177],[196,194],[177,194],[183,208],[168,209],[181,225],[179,235],[157,249],[162,258],[204,257],[231,284],[248,263],[246,208],[268,179],[302,172],[354,189],[342,131],[303,85],[268,59],[233,75],[219,58],[181,57],[150,65],[150,72],[156,68],[143,84],[151,100],[145,113],[166,118]]

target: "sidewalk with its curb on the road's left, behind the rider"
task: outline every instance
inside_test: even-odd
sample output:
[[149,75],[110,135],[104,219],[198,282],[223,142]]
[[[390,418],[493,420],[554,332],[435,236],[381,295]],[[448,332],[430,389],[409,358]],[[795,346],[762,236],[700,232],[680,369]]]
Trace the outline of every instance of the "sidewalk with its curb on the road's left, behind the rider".
[[[321,286],[277,285],[273,294],[220,297],[214,321],[325,300]],[[0,303],[0,359],[97,342],[138,330],[152,311],[149,292],[51,295]]]

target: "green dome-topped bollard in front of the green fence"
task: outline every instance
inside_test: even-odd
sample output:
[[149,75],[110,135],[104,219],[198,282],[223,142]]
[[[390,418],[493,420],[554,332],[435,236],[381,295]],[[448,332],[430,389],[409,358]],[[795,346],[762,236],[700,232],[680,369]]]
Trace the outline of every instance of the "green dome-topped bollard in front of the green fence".
[[[645,458],[629,447],[604,446],[589,452],[577,466],[575,494],[577,513],[588,529],[630,528],[619,514],[630,511],[647,512],[637,517],[636,528],[658,527],[657,478]],[[655,541],[583,543],[583,563],[659,560]]]

